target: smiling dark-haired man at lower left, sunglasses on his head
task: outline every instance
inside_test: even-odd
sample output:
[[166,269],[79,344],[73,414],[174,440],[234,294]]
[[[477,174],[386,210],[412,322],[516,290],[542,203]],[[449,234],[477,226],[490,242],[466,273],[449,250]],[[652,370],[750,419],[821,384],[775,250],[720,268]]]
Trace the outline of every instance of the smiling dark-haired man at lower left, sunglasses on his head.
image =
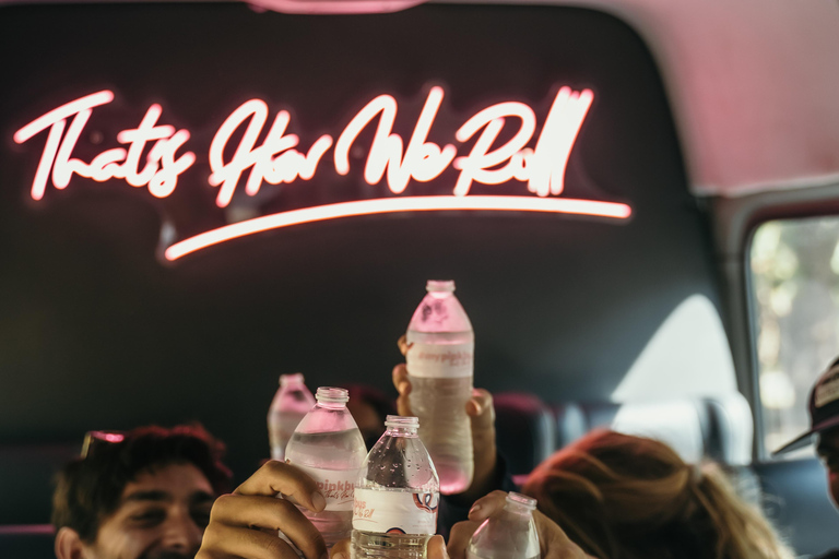
[[88,433],[58,478],[58,559],[194,557],[215,498],[229,491],[224,445],[200,426]]

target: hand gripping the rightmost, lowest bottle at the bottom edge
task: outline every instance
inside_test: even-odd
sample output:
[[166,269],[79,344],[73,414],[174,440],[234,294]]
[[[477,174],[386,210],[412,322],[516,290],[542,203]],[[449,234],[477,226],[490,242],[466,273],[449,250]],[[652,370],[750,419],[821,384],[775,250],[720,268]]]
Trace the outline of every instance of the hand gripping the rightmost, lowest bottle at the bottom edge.
[[[493,491],[475,501],[472,510],[469,511],[469,520],[458,522],[452,526],[449,535],[449,555],[451,559],[464,559],[466,557],[466,546],[475,533],[477,526],[493,514],[504,509],[507,501],[507,493],[504,491]],[[563,528],[556,525],[554,521],[539,511],[533,511],[533,521],[539,533],[540,557],[542,559],[588,559],[580,547],[568,539]]]

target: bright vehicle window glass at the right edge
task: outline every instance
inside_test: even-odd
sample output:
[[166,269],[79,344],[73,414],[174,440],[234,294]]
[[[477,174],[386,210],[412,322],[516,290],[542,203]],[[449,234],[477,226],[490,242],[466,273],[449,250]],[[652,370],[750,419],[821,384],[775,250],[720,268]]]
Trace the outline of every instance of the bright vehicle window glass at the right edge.
[[769,452],[806,430],[810,389],[839,354],[837,241],[839,217],[817,217],[765,223],[752,242],[753,320]]

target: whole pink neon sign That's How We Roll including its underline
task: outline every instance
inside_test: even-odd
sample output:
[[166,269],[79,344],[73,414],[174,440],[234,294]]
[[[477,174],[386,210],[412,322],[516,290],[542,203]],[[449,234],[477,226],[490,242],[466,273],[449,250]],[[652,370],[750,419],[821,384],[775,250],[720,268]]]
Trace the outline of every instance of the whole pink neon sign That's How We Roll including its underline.
[[[393,132],[399,105],[390,95],[379,95],[364,106],[335,140],[330,134],[318,138],[307,150],[298,151],[299,136],[286,133],[291,115],[281,110],[260,145],[269,119],[268,105],[250,99],[236,108],[221,124],[210,144],[210,187],[216,188],[218,207],[231,204],[236,189],[245,179],[245,193],[256,195],[263,183],[281,185],[311,180],[318,168],[328,165],[324,157],[332,148],[332,165],[340,176],[350,173],[350,154],[364,129],[374,126],[373,142],[367,151],[364,180],[378,185],[382,180],[392,194],[388,198],[327,204],[255,217],[212,231],[196,235],[169,247],[166,259],[177,260],[190,252],[245,235],[308,222],[389,212],[439,210],[492,210],[551,212],[593,215],[624,219],[628,205],[594,200],[559,197],[565,190],[565,171],[577,135],[593,100],[589,90],[575,92],[562,87],[547,112],[534,147],[529,147],[536,130],[533,109],[518,102],[506,102],[480,110],[454,133],[460,143],[474,143],[466,155],[458,156],[453,143],[439,145],[428,140],[439,112],[444,90],[432,87],[414,130],[405,143]],[[79,139],[93,109],[114,100],[114,93],[102,91],[67,103],[36,118],[14,133],[19,144],[47,132],[31,195],[42,200],[49,183],[64,189],[73,175],[104,182],[114,179],[149,189],[156,198],[167,198],[178,186],[178,178],[196,163],[196,154],[186,151],[190,132],[158,124],[159,105],[149,107],[140,124],[122,130],[117,142],[126,147],[105,150],[90,163],[73,157]],[[505,127],[509,139],[496,145]],[[233,144],[243,130],[238,144]],[[512,134],[510,135],[510,132]],[[146,153],[145,160],[141,159]],[[179,153],[180,152],[180,153]],[[225,154],[233,153],[225,160]],[[447,169],[459,171],[451,195],[402,195],[414,182],[429,182]],[[246,177],[247,174],[247,177]],[[472,186],[527,183],[528,195],[473,195]]]

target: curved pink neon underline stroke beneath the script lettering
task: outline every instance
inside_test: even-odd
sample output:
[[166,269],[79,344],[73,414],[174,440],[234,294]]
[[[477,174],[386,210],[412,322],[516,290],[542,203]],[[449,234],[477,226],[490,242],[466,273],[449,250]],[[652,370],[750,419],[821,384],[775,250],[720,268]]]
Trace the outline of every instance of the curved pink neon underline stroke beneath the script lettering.
[[435,212],[444,210],[489,210],[500,212],[546,212],[559,214],[591,215],[626,219],[633,213],[627,204],[599,202],[594,200],[545,199],[531,197],[406,197],[358,200],[338,204],[318,205],[291,210],[276,214],[255,217],[245,222],[225,225],[206,233],[176,242],[166,249],[168,261],[178,260],[191,252],[227,240],[253,235],[289,225],[322,222],[356,215],[385,214],[394,212]]

